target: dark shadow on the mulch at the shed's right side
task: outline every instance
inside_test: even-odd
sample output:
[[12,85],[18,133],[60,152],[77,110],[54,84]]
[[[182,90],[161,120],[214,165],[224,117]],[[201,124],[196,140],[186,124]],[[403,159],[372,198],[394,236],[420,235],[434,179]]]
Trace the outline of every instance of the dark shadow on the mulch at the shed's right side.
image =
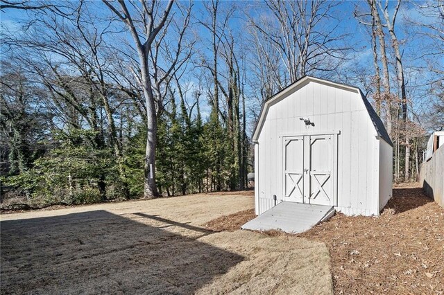
[[398,214],[430,202],[433,202],[433,199],[427,197],[421,188],[393,188],[393,197],[388,200],[384,210],[393,208],[395,214]]

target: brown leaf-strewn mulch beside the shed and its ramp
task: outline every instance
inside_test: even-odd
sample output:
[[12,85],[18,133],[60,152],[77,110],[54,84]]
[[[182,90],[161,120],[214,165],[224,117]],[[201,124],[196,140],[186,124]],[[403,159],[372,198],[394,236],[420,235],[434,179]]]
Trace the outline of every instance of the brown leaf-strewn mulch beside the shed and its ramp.
[[[232,231],[253,217],[243,211],[208,225]],[[379,217],[338,213],[296,237],[325,242],[335,294],[444,294],[444,209],[418,184],[395,186]]]

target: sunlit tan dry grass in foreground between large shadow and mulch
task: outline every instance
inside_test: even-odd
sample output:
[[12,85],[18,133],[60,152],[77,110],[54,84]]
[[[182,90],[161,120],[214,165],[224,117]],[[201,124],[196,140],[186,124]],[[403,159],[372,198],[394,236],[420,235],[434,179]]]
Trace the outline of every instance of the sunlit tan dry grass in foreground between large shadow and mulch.
[[324,243],[240,230],[207,235],[200,241],[246,259],[197,294],[332,294]]

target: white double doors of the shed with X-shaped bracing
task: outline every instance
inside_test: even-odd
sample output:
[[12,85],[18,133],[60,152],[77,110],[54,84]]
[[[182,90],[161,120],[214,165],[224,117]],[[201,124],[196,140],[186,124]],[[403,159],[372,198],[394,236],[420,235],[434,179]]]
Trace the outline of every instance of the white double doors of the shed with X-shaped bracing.
[[284,201],[336,206],[335,135],[284,137]]

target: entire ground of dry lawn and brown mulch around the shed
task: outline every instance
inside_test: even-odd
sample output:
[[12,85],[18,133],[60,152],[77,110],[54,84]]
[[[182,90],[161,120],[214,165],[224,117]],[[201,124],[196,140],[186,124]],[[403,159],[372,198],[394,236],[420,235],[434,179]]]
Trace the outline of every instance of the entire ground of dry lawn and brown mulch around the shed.
[[300,235],[240,231],[251,195],[1,215],[1,294],[444,294],[444,210],[418,184]]

